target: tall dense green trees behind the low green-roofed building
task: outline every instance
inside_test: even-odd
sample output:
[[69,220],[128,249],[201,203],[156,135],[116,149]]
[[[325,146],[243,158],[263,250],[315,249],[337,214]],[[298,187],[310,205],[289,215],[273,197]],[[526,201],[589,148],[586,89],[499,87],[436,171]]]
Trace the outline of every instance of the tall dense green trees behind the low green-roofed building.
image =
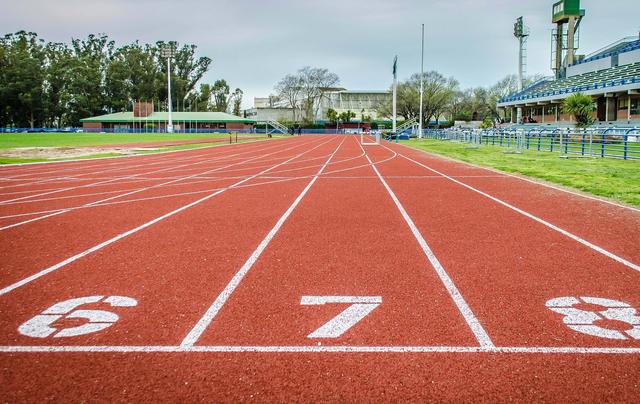
[[173,110],[240,114],[242,90],[225,80],[200,83],[212,60],[176,42],[116,46],[105,34],[46,42],[20,31],[0,38],[0,127],[79,126],[80,119],[131,111],[134,101],[167,109],[165,44],[171,63]]

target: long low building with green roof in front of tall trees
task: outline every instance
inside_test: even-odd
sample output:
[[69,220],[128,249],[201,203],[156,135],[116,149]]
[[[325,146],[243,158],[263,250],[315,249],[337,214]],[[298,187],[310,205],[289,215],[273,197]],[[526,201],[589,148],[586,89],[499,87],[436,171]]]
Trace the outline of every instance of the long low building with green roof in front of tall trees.
[[[135,103],[132,112],[117,112],[81,119],[86,131],[129,132],[164,131],[169,121],[168,112],[154,112],[152,103]],[[252,119],[224,112],[173,112],[173,128],[183,130],[250,130],[255,123]]]

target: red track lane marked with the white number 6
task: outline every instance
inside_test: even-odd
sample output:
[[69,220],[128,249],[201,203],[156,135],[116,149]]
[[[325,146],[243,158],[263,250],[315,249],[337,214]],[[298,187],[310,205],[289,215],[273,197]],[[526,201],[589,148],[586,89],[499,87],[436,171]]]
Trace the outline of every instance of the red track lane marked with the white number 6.
[[[336,142],[307,140],[307,147],[288,153],[293,161],[322,155],[335,149]],[[202,315],[211,291],[228,282],[261,232],[307,181],[290,181],[268,191],[231,189],[15,289],[0,298],[0,310],[12,313],[0,319],[0,334],[11,344],[176,344]],[[96,294],[129,296],[138,305],[117,310],[117,326],[101,333],[40,340],[17,331],[22,322],[57,301]],[[69,326],[69,321],[59,325]]]

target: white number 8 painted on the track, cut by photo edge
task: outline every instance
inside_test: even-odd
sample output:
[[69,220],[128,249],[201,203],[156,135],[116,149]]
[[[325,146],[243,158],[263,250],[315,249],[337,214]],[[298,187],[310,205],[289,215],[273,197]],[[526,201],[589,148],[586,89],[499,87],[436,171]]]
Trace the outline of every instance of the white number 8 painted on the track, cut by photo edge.
[[[603,307],[600,311],[585,311],[574,306],[586,303]],[[640,316],[635,308],[618,300],[599,297],[558,297],[547,302],[547,307],[564,315],[562,320],[574,331],[608,339],[640,339]],[[596,325],[599,320],[617,320],[629,324],[625,331],[612,330]]]

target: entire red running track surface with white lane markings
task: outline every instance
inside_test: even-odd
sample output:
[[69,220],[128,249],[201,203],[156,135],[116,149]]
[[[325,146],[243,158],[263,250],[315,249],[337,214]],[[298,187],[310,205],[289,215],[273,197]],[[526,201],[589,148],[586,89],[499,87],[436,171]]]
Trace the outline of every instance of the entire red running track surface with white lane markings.
[[640,214],[402,146],[4,167],[0,228],[4,401],[640,398]]

